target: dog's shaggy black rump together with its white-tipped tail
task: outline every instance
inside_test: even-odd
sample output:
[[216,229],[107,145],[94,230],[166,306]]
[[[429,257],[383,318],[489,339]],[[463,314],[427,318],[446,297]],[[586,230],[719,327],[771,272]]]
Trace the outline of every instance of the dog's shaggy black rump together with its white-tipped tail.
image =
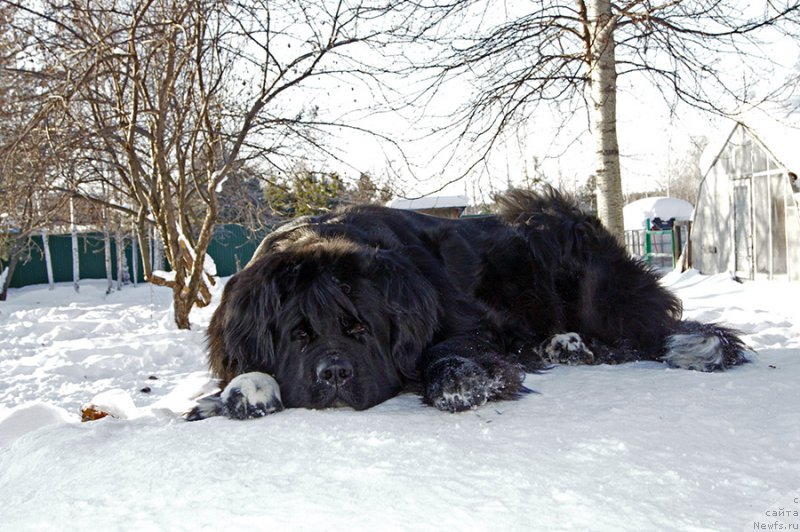
[[713,371],[746,361],[736,331],[681,321],[681,302],[657,273],[631,258],[573,198],[547,188],[512,190],[497,202],[500,217],[526,236],[531,254],[550,256],[564,329],[594,349],[594,362],[663,359]]

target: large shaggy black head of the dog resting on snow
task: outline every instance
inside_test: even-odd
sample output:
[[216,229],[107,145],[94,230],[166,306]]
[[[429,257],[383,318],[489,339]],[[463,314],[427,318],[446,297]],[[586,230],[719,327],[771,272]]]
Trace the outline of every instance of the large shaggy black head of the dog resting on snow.
[[418,379],[438,295],[395,251],[310,235],[230,279],[209,326],[212,371],[278,381],[287,407],[369,408]]

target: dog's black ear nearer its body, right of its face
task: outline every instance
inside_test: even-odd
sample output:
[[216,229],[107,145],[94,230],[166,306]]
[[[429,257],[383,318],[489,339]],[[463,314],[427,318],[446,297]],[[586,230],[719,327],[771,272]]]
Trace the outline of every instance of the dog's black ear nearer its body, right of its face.
[[439,324],[441,298],[417,267],[417,252],[410,248],[403,251],[375,251],[366,273],[389,314],[395,365],[406,377],[416,380],[419,356],[433,340]]

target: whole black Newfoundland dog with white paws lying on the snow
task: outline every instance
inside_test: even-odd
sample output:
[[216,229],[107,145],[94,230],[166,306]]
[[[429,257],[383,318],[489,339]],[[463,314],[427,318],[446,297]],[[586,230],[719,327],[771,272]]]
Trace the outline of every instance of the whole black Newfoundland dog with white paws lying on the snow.
[[734,331],[681,321],[679,300],[570,198],[498,203],[462,220],[358,206],[270,234],[208,328],[223,391],[187,419],[363,410],[406,390],[457,412],[515,398],[526,371],[553,364],[746,361]]

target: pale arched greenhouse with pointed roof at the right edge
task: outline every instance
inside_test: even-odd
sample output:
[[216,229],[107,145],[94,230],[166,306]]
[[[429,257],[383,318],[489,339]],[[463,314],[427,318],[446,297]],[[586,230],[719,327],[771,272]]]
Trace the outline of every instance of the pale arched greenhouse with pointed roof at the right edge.
[[749,111],[704,152],[691,235],[701,272],[800,280],[800,120],[785,115]]

